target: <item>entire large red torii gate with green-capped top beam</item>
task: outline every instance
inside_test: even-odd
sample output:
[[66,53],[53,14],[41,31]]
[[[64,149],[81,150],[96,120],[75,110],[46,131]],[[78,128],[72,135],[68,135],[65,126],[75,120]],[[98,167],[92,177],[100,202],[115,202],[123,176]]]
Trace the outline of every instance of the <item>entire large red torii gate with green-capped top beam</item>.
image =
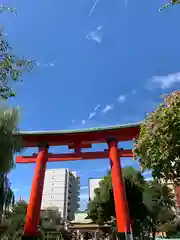
[[[133,157],[133,154],[132,150],[118,149],[118,142],[136,138],[139,134],[140,124],[133,123],[85,130],[20,131],[15,133],[17,137],[22,138],[24,147],[39,147],[38,154],[16,157],[16,163],[36,163],[22,239],[33,240],[38,237],[46,162],[102,158],[110,159],[119,239],[125,239],[125,235],[130,233],[130,219],[120,157]],[[82,152],[83,148],[91,148],[93,143],[107,143],[108,149],[101,152]],[[74,152],[65,154],[48,153],[50,146],[68,146],[69,149],[74,149]]]

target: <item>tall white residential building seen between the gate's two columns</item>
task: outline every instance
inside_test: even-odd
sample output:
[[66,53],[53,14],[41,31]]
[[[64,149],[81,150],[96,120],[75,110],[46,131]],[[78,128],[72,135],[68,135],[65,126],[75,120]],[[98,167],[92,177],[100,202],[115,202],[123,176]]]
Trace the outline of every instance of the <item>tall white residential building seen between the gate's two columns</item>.
[[41,209],[57,207],[61,217],[73,220],[79,208],[80,179],[69,169],[47,169]]

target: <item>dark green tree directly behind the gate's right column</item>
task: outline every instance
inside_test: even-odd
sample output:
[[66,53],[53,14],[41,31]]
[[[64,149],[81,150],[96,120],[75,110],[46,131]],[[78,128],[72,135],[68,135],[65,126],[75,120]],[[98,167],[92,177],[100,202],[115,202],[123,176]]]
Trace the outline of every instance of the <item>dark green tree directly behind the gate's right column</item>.
[[[137,228],[137,223],[140,223],[145,217],[141,186],[144,180],[140,173],[131,167],[124,168],[123,174],[133,232],[139,235],[141,229],[139,225]],[[95,189],[95,198],[88,205],[88,217],[99,225],[103,225],[105,222],[112,222],[116,217],[110,172],[100,182],[100,187]]]

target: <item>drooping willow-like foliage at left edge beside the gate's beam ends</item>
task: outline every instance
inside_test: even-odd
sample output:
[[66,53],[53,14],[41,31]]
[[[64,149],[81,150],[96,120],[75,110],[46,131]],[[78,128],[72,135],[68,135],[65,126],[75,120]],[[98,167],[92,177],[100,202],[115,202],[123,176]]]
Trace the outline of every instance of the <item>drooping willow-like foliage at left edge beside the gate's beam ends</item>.
[[0,106],[0,173],[14,166],[13,154],[21,150],[21,139],[14,136],[19,120],[19,108]]

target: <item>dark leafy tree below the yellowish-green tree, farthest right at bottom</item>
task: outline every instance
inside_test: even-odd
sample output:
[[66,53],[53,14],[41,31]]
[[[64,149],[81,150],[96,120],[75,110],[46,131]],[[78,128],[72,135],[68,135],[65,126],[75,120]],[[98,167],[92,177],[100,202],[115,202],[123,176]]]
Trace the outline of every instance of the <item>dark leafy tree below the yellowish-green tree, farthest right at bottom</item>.
[[[143,199],[146,206],[146,224],[149,227],[149,234],[152,232],[155,239],[157,231],[168,231],[165,225],[175,220],[175,196],[166,184],[156,181],[144,185]],[[148,234],[148,235],[149,235]]]

